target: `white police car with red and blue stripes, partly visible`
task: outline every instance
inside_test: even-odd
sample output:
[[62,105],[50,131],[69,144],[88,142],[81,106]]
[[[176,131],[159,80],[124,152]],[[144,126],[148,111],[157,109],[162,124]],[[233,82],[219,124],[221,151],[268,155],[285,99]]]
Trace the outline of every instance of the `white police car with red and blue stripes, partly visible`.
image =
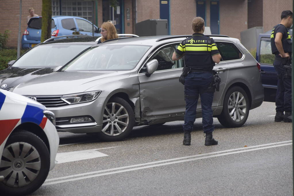
[[37,190],[56,164],[55,116],[42,104],[0,89],[0,192]]

